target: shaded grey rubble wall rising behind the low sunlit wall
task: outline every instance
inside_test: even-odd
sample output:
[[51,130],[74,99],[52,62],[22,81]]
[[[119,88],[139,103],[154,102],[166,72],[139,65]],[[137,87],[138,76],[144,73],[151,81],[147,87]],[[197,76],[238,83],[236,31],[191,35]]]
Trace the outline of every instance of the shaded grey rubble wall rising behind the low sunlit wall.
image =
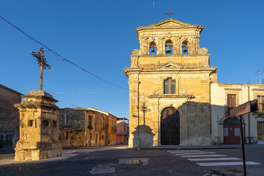
[[[60,129],[85,129],[85,110],[75,110],[72,108],[62,108],[60,113],[59,127]],[[65,126],[66,114],[66,126]]]

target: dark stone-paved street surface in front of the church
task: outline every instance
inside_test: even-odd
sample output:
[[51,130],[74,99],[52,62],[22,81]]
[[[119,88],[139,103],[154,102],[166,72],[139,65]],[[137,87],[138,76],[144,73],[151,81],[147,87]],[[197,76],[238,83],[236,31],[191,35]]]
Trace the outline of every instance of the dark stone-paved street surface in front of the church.
[[[205,176],[209,175],[211,169],[239,169],[243,171],[243,165],[225,165],[225,166],[201,166],[197,163],[213,163],[213,162],[229,162],[229,161],[194,161],[188,160],[197,157],[181,157],[183,155],[176,155],[172,150],[135,150],[135,149],[120,149],[120,147],[85,147],[85,148],[72,148],[64,149],[63,152],[71,152],[78,154],[71,158],[59,161],[50,161],[34,164],[11,164],[0,165],[0,175],[65,175],[65,176],[162,176],[162,175],[177,175],[177,176]],[[183,151],[183,150],[180,150]],[[227,155],[228,158],[241,159],[241,149],[211,149],[199,150],[201,152],[213,152],[213,154]],[[177,151],[176,151],[177,152]],[[187,152],[187,151],[184,151]],[[196,152],[196,151],[193,151]],[[191,152],[189,152],[191,153]],[[192,155],[192,154],[188,154]],[[194,154],[200,155],[200,154]],[[211,154],[208,154],[211,155]],[[261,148],[247,149],[246,161],[259,163],[258,165],[247,165],[248,176],[263,175],[264,168],[264,154]],[[141,159],[147,158],[148,163],[139,164],[123,164],[120,159]],[[209,157],[202,157],[209,158]],[[220,157],[211,157],[220,158]],[[233,160],[231,160],[233,162]],[[239,160],[241,161],[241,160]],[[1,162],[1,160],[0,160]],[[237,161],[235,161],[237,162]],[[114,173],[96,173],[91,174],[93,168],[98,167],[114,167]],[[254,174],[252,174],[254,173]],[[242,175],[241,173],[237,173]]]

